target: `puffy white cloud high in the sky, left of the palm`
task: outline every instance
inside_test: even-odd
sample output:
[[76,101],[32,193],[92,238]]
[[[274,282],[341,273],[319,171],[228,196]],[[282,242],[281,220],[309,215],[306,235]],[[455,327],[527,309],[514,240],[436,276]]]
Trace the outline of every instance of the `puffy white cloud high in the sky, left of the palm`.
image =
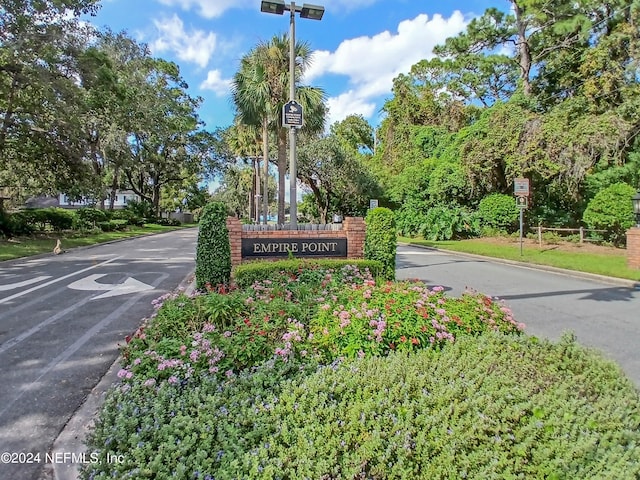
[[177,15],[153,22],[159,37],[149,47],[154,53],[170,51],[185,62],[204,68],[216,49],[216,35],[203,30],[185,31],[184,23]]

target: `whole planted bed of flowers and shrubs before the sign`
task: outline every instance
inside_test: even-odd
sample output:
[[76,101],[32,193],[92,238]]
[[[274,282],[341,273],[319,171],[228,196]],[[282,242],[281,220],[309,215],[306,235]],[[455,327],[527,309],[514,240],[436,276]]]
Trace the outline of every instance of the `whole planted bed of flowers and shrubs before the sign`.
[[83,478],[633,474],[637,391],[613,364],[519,335],[479,293],[304,264],[157,299],[87,444],[105,461]]

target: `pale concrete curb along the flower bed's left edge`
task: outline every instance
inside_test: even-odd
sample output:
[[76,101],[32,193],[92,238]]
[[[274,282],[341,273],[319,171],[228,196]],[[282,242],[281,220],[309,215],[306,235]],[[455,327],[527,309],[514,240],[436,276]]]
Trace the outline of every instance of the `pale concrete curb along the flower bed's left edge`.
[[[191,271],[175,291],[191,295],[195,291],[195,272]],[[92,452],[86,452],[84,443],[107,393],[113,385],[119,382],[120,360],[121,357],[118,356],[53,442],[51,456],[59,458],[61,462],[49,464],[45,470],[53,473],[54,480],[78,480],[80,478],[82,464],[70,462],[69,456],[72,459],[84,458],[87,462],[91,461]],[[67,457],[65,458],[64,455]]]

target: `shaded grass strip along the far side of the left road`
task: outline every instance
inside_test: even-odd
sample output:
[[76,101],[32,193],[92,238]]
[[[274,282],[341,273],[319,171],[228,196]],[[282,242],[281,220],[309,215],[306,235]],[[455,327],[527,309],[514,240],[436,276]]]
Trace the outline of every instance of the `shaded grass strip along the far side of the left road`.
[[180,228],[194,227],[195,225],[182,225],[180,227],[165,227],[156,224],[147,224],[143,227],[130,227],[122,232],[103,232],[92,235],[81,235],[77,232],[52,232],[48,235],[36,235],[33,237],[20,237],[11,240],[0,239],[0,262],[14,258],[28,257],[39,253],[51,253],[59,238],[62,248],[68,250],[74,247],[96,245],[98,243],[111,242],[122,238],[138,237],[150,233],[163,233]]

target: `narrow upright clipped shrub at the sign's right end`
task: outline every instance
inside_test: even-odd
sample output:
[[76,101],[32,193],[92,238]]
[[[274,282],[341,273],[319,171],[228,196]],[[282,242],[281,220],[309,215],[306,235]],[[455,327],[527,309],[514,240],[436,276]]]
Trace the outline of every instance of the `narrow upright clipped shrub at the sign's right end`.
[[396,278],[396,220],[391,210],[378,207],[369,210],[365,218],[367,231],[364,240],[364,258],[382,264],[382,276]]

